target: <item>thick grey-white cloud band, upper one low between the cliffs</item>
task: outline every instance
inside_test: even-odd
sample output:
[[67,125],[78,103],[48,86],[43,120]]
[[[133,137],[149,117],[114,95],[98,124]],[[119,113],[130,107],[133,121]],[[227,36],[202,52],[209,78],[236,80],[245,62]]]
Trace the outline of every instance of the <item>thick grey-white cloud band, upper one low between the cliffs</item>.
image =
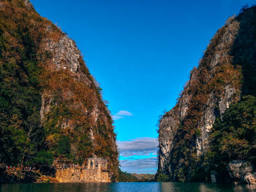
[[116,142],[121,156],[156,154],[158,150],[158,139],[151,137],[140,137],[129,141]]

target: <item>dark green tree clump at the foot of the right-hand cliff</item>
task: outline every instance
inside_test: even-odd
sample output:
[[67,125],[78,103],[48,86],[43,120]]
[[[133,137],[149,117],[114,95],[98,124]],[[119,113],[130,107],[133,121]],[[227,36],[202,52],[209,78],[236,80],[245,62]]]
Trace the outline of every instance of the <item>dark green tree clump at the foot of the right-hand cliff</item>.
[[218,119],[210,135],[211,149],[205,155],[207,171],[226,180],[227,164],[233,160],[256,164],[256,97],[244,96]]

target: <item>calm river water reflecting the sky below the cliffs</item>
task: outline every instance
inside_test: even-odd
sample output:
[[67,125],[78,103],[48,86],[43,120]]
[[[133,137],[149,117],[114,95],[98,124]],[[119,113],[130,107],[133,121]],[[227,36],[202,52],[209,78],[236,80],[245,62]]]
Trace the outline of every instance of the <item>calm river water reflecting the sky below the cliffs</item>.
[[256,185],[215,185],[208,183],[56,183],[6,184],[1,192],[178,192],[178,191],[256,191]]

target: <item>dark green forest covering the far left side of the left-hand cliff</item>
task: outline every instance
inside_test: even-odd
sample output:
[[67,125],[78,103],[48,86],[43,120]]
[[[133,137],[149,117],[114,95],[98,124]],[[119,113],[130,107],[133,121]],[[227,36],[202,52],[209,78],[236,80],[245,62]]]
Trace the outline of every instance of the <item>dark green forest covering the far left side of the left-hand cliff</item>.
[[[2,2],[3,3],[3,2]],[[31,33],[26,17],[20,22],[23,4],[0,10],[0,161],[31,164],[45,150],[40,123],[41,88],[37,48],[41,37]],[[36,17],[37,15],[31,15]]]

